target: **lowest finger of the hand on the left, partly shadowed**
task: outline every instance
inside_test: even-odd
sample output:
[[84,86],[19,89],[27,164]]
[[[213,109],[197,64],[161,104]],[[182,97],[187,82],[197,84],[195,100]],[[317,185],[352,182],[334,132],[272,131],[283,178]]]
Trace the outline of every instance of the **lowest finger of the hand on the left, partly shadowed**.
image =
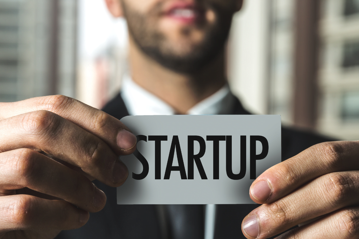
[[89,213],[61,200],[30,195],[0,197],[0,233],[13,230],[70,230],[87,223]]

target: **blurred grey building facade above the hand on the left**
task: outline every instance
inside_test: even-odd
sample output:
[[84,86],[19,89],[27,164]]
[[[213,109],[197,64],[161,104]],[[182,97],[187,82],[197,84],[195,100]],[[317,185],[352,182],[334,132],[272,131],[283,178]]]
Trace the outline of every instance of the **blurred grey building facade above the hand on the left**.
[[0,0],[0,101],[74,97],[74,0]]

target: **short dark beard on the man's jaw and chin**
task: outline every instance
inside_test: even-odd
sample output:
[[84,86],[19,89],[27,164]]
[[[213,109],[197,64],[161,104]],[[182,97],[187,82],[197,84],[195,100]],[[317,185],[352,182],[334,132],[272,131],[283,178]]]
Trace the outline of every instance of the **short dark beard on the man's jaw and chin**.
[[176,43],[157,28],[156,16],[162,10],[163,2],[155,5],[148,13],[141,14],[131,9],[124,1],[122,7],[129,33],[139,49],[165,68],[183,74],[194,74],[202,70],[223,52],[232,23],[233,10],[223,9],[215,3],[205,3],[205,9],[215,13],[215,20],[196,24],[204,32],[200,42],[190,40],[192,26],[180,29],[184,42]]

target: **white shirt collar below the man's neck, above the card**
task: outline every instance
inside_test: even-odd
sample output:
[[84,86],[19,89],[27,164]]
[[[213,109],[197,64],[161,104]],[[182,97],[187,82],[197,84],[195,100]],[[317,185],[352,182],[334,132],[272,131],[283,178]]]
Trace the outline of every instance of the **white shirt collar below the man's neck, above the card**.
[[[173,115],[175,110],[157,96],[143,89],[132,81],[131,77],[123,77],[121,96],[130,115]],[[189,115],[216,115],[230,114],[235,102],[234,95],[229,86],[225,85],[202,100],[190,110]]]

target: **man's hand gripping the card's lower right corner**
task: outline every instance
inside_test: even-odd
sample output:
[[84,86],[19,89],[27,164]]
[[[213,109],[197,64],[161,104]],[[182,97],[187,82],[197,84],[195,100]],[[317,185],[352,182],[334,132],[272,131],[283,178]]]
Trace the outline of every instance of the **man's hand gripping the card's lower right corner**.
[[264,204],[242,223],[247,238],[359,238],[359,142],[314,145],[271,167],[250,188]]

